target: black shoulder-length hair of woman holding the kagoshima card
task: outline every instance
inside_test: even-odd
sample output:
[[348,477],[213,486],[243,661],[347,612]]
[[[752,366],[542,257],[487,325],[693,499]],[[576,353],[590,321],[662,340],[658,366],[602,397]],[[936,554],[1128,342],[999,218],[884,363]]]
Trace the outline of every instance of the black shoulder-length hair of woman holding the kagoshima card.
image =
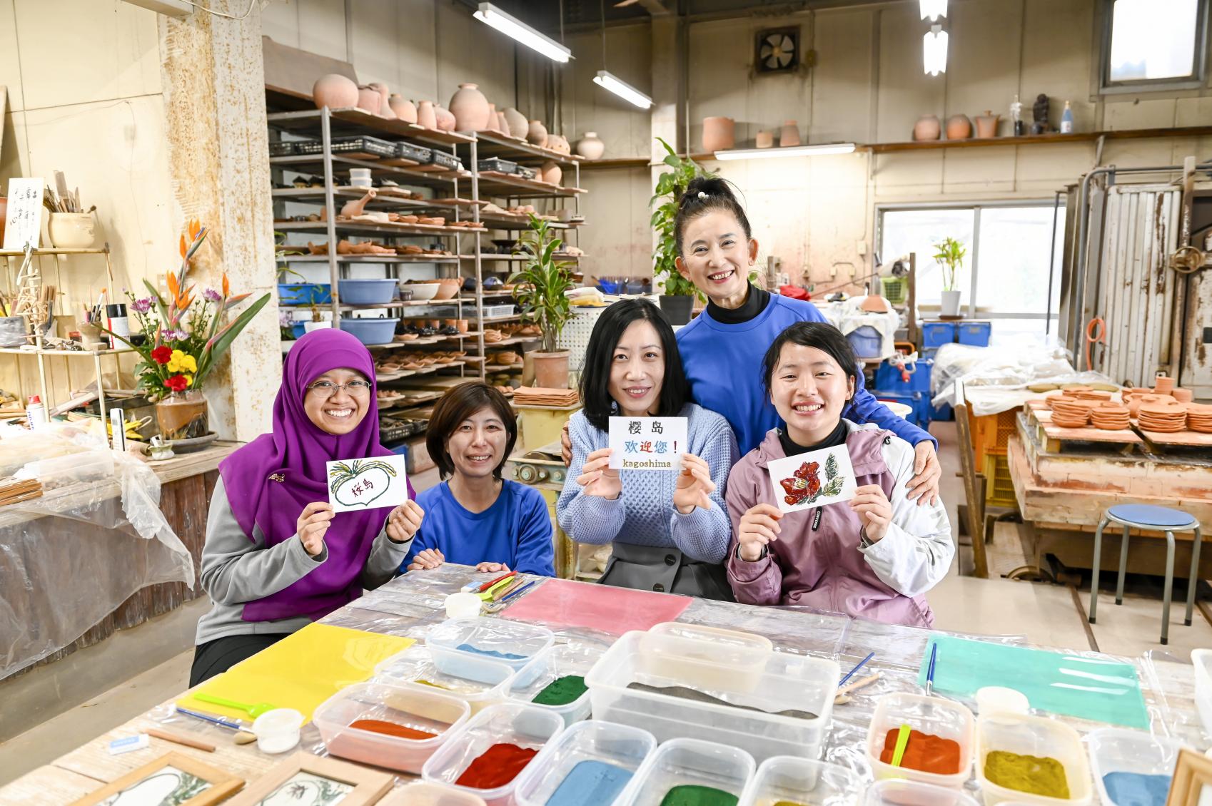
[[676,417],[690,400],[690,383],[682,370],[681,353],[674,328],[661,309],[647,299],[621,299],[604,310],[594,322],[585,349],[585,362],[581,370],[581,405],[589,424],[607,430],[613,406],[610,396],[610,367],[618,339],[631,322],[651,322],[661,337],[661,349],[665,354],[665,377],[661,382],[658,417]]

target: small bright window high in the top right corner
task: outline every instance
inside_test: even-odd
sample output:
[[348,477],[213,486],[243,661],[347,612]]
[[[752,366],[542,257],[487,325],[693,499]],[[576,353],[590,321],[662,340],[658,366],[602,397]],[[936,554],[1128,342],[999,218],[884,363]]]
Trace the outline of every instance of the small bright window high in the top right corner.
[[1108,0],[1103,92],[1202,84],[1208,0]]

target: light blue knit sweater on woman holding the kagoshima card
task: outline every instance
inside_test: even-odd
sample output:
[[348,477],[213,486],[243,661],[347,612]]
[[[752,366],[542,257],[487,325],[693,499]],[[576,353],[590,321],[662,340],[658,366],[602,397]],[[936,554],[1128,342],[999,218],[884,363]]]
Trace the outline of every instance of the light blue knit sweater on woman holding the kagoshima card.
[[707,462],[715,481],[711,508],[696,507],[682,515],[674,507],[678,474],[661,470],[621,470],[623,493],[614,501],[587,496],[577,484],[585,457],[608,447],[608,435],[589,424],[583,412],[568,421],[572,464],[564,491],[555,505],[560,527],[579,543],[611,542],[676,548],[692,560],[722,562],[732,536],[732,524],[724,503],[728,469],[736,464],[737,440],[726,419],[714,411],[686,404],[679,412],[687,417],[690,453]]

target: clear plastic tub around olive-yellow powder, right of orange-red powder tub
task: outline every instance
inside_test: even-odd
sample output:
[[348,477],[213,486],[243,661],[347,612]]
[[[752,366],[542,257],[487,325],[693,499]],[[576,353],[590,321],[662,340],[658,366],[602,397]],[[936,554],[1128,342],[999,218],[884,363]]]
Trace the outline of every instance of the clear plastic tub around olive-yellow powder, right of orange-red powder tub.
[[[999,787],[985,778],[985,756],[993,750],[1006,750],[1019,755],[1051,756],[1064,767],[1069,798],[1047,798],[1027,791]],[[1081,747],[1077,731],[1046,716],[1024,714],[994,714],[977,720],[977,781],[985,806],[1016,801],[1059,806],[1088,804],[1093,796],[1090,785],[1090,765]]]

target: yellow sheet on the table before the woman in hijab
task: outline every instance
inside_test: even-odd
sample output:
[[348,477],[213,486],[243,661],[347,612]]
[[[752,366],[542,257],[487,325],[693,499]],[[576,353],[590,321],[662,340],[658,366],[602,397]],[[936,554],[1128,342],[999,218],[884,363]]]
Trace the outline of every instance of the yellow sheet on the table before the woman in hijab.
[[316,705],[345,686],[371,676],[375,665],[413,644],[411,638],[366,633],[347,627],[308,624],[268,650],[201,684],[177,704],[234,719],[251,718],[234,708],[204,702],[207,693],[240,703],[293,708],[307,721]]

